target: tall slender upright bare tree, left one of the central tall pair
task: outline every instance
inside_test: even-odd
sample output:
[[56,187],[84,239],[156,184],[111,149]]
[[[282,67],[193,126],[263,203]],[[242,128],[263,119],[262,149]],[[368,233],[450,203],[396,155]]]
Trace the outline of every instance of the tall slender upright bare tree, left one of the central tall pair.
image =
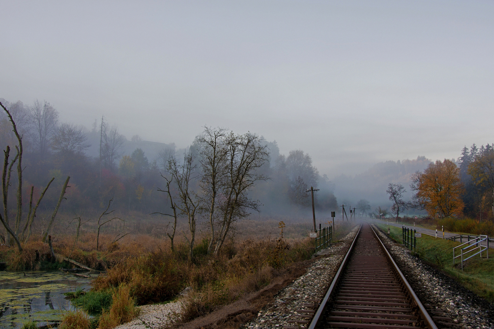
[[225,147],[226,130],[223,128],[204,127],[202,135],[196,138],[198,142],[199,154],[201,156],[201,187],[204,197],[203,204],[209,217],[209,229],[211,238],[207,246],[207,253],[211,249],[215,240],[214,236],[214,210],[216,209],[216,198],[220,190],[221,182],[226,175],[226,154]]

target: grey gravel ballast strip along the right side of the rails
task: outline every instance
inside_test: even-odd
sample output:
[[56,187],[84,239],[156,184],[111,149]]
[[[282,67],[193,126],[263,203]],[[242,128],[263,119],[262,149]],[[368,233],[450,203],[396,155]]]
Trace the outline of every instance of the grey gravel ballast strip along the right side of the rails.
[[494,328],[492,304],[423,263],[410,250],[394,242],[375,225],[372,226],[427,311],[438,312],[434,316],[453,319],[454,325],[436,321],[438,328]]

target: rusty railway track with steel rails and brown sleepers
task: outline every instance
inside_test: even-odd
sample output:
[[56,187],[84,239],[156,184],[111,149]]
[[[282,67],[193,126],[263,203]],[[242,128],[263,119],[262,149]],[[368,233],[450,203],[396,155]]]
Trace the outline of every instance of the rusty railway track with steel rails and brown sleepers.
[[437,329],[368,223],[361,225],[321,303],[304,306],[290,322],[308,329]]

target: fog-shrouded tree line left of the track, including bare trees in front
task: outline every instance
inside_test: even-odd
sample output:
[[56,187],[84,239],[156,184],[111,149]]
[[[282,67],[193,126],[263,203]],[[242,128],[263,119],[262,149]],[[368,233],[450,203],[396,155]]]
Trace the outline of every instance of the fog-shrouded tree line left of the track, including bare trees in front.
[[[177,219],[187,219],[191,252],[196,225],[206,221],[208,252],[217,253],[225,239],[234,234],[235,222],[252,211],[260,211],[262,205],[310,206],[305,192],[310,186],[322,186],[316,195],[319,209],[336,208],[331,183],[326,175],[319,175],[308,154],[292,150],[288,156],[282,155],[276,141],[268,142],[256,134],[238,135],[224,128],[205,127],[184,152],[165,147],[149,160],[139,147],[124,155],[127,140],[117,126],[104,118],[88,130],[81,125],[60,123],[58,111],[45,101],[35,101],[32,106],[0,101],[4,107],[0,142],[5,147],[23,147],[22,177],[9,176],[14,162],[21,166],[20,158],[8,162],[5,171],[7,215],[20,209],[21,213],[35,216],[35,207],[38,212],[54,208],[58,211],[59,207],[81,221],[81,216],[90,217],[91,212],[105,213],[111,203],[124,214],[137,212],[143,218],[152,213],[171,216],[167,231],[171,237],[175,235]],[[99,144],[99,156],[86,153],[90,141],[93,146],[94,141]],[[132,138],[136,145],[140,141],[138,136]],[[64,187],[67,177],[70,184]],[[21,189],[9,190],[10,185]],[[64,198],[69,201],[61,203]],[[14,225],[14,231],[22,232],[19,225]],[[0,238],[9,242],[12,234],[5,229]]]

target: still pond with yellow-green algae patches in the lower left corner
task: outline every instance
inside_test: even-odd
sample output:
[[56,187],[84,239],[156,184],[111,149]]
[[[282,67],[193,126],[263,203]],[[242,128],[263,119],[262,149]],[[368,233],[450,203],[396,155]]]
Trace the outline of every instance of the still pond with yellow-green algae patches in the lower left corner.
[[90,281],[62,271],[0,272],[0,328],[59,321],[63,311],[74,310],[63,293],[88,291]]

